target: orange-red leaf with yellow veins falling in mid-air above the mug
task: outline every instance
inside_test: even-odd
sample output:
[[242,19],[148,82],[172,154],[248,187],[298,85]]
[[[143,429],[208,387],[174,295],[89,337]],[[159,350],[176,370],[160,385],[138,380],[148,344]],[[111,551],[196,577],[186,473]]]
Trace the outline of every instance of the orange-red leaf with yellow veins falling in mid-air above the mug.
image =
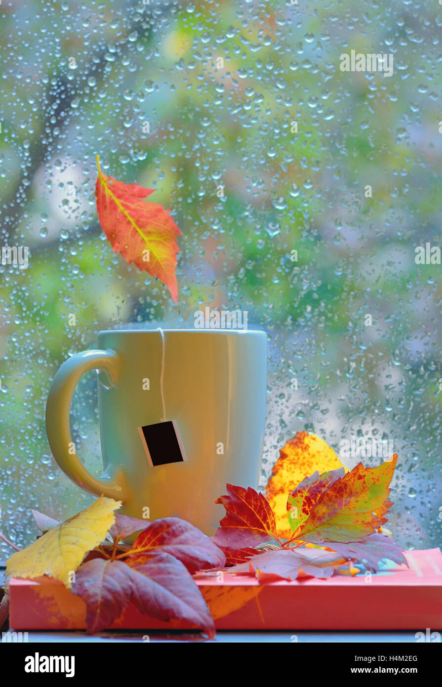
[[158,277],[170,289],[174,302],[178,300],[175,265],[181,232],[163,205],[143,199],[154,192],[136,183],[123,183],[100,170],[95,198],[100,225],[115,253],[138,269]]

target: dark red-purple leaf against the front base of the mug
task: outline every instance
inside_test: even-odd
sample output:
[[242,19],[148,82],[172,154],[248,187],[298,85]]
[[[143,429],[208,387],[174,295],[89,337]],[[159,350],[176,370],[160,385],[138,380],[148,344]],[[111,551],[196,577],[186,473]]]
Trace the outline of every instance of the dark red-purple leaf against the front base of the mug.
[[[141,559],[152,552],[174,556],[191,573],[207,567],[223,567],[226,560],[222,550],[207,534],[177,517],[165,517],[150,523],[135,539],[128,555]],[[130,559],[126,562],[131,565]]]

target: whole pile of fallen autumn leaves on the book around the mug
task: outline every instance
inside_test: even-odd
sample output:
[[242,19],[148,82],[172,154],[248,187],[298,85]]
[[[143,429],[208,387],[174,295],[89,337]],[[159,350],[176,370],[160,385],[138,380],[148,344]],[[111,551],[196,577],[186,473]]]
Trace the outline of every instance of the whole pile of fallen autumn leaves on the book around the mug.
[[[62,581],[86,603],[90,633],[110,627],[132,602],[141,613],[187,620],[212,637],[213,618],[196,572],[228,565],[230,572],[266,583],[354,574],[354,561],[373,572],[382,559],[406,563],[381,533],[392,506],[388,485],[397,455],[375,468],[358,464],[346,472],[325,442],[305,432],[280,453],[267,499],[252,488],[227,485],[227,495],[217,499],[226,515],[212,538],[179,518],[149,522],[115,514],[121,502],[101,497],[64,523],[34,512],[44,534],[10,556],[7,578],[49,575]],[[299,481],[312,462],[321,474]],[[125,543],[137,532],[132,545]],[[268,544],[274,548],[259,549]]]

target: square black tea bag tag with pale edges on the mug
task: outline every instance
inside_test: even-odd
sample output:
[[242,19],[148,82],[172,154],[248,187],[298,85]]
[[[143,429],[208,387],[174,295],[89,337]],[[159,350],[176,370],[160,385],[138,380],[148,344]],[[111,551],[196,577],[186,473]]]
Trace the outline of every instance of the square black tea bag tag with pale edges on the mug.
[[144,425],[144,427],[139,427],[138,431],[150,466],[183,463],[187,460],[174,420]]

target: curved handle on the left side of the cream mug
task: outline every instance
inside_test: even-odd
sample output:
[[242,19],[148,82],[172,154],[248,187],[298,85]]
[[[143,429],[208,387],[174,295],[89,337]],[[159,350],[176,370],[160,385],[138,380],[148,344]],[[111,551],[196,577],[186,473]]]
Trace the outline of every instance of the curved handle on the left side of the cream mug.
[[116,383],[117,354],[113,350],[83,350],[62,364],[47,397],[46,433],[49,446],[62,471],[75,484],[91,494],[124,501],[127,491],[123,472],[117,471],[113,479],[94,477],[78,458],[71,438],[69,409],[72,396],[78,380],[88,370],[102,370],[106,372],[110,383]]

